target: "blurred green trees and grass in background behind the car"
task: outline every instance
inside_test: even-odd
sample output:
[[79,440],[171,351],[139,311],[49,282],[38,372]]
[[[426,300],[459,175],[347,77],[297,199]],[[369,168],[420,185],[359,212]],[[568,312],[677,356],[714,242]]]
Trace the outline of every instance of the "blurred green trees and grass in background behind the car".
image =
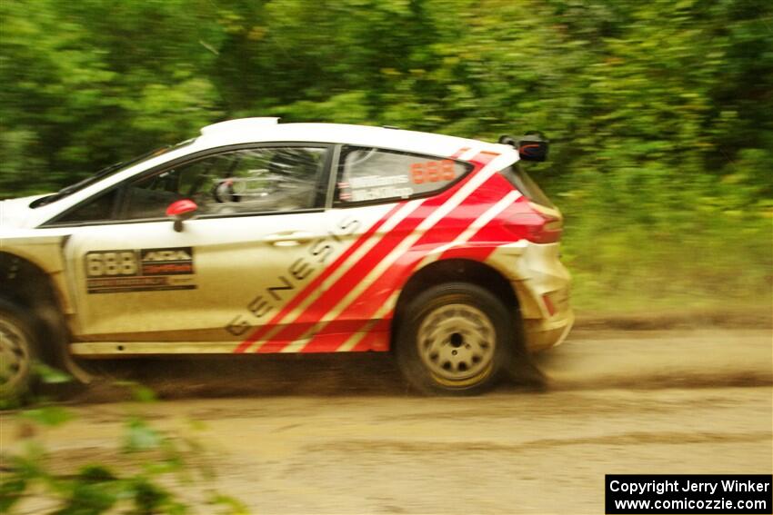
[[533,173],[567,214],[583,304],[769,301],[768,1],[8,0],[0,16],[0,197],[238,116],[539,129],[553,144]]

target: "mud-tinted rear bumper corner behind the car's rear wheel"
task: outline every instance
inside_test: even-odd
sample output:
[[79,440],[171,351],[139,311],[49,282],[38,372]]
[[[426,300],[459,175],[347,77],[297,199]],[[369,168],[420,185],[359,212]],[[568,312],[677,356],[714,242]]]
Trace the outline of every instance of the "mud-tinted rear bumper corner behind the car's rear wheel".
[[571,276],[558,256],[558,243],[526,241],[499,247],[491,256],[491,264],[517,294],[529,352],[563,342],[575,322],[569,304]]

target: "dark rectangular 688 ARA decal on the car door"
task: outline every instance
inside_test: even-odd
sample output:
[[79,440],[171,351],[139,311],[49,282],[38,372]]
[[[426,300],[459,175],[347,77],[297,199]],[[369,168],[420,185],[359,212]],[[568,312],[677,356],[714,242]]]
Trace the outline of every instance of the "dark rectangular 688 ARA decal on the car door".
[[196,289],[192,247],[95,251],[84,262],[88,293]]

